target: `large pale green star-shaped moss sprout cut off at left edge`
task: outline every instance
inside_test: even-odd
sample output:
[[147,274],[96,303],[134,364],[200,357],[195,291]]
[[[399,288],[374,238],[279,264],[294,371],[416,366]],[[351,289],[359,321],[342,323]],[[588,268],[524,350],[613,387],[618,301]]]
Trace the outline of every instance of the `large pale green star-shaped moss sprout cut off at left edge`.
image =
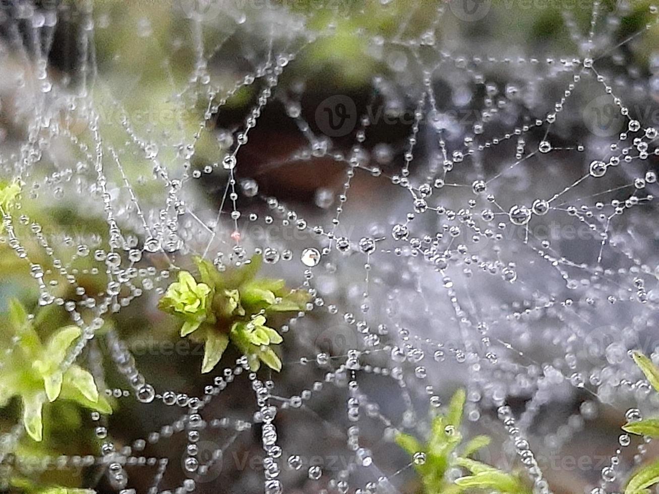
[[12,397],[20,397],[22,422],[34,441],[43,437],[43,405],[58,398],[103,414],[112,413],[107,399],[98,393],[92,374],[76,364],[61,370],[67,350],[80,334],[77,326],[62,327],[43,344],[25,308],[18,300],[9,301],[9,318],[5,319],[0,339],[3,348],[11,351],[0,356],[0,407]]

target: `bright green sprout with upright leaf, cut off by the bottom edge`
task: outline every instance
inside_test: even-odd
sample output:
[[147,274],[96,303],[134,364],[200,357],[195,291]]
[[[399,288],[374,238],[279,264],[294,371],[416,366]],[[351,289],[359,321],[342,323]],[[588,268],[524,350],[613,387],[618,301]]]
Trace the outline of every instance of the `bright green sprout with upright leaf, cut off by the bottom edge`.
[[[413,458],[416,473],[426,494],[458,494],[469,491],[499,491],[509,494],[530,494],[531,490],[517,474],[502,472],[493,466],[470,458],[490,444],[490,437],[478,435],[462,446],[460,432],[465,390],[458,389],[445,414],[432,419],[430,438],[422,445],[415,437],[397,433],[396,443]],[[447,472],[460,468],[469,472],[453,481]]]

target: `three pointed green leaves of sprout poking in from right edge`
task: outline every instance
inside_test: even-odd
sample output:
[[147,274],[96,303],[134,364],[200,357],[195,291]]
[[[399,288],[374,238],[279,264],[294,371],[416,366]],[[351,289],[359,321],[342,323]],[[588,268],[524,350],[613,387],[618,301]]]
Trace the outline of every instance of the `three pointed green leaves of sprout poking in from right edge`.
[[[652,364],[652,360],[641,352],[634,351],[631,354],[636,365],[639,366],[650,385],[655,391],[659,391],[659,369]],[[645,435],[648,437],[659,437],[659,419],[646,418],[636,422],[627,422],[622,426],[623,430],[632,434]],[[659,483],[659,460],[642,466],[627,481],[625,494],[650,493],[648,487]]]

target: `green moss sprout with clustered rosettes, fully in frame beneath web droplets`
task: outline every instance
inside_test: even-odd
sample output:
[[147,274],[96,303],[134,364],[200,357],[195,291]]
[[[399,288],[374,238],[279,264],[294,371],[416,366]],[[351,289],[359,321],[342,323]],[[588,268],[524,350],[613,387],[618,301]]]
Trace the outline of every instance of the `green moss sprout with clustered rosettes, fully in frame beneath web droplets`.
[[222,272],[210,261],[193,260],[199,281],[188,271],[179,271],[158,307],[183,320],[181,337],[204,343],[202,373],[213,370],[229,342],[246,356],[252,371],[261,362],[280,371],[281,360],[272,345],[283,339],[266,325],[268,318],[276,312],[305,310],[308,293],[287,288],[283,279],[256,278],[261,256]]

